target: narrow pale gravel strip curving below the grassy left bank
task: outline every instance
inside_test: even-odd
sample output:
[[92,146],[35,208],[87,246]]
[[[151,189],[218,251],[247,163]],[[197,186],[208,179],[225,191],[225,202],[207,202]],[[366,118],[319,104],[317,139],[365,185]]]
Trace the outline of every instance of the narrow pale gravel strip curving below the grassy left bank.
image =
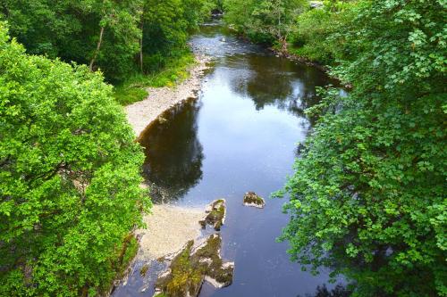
[[209,58],[204,55],[196,55],[197,64],[193,65],[189,72],[190,77],[175,87],[148,87],[148,97],[137,103],[125,107],[127,120],[135,131],[137,138],[148,125],[177,103],[188,98],[196,97],[200,89],[203,72],[207,70]]

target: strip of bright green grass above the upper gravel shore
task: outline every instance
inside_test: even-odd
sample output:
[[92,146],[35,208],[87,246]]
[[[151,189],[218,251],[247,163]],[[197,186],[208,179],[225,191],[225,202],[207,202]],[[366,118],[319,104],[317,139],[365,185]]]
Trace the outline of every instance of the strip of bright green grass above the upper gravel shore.
[[114,97],[122,105],[128,105],[145,99],[147,87],[173,87],[188,78],[188,68],[195,62],[194,54],[182,52],[169,58],[163,58],[162,66],[148,74],[136,74],[114,87]]

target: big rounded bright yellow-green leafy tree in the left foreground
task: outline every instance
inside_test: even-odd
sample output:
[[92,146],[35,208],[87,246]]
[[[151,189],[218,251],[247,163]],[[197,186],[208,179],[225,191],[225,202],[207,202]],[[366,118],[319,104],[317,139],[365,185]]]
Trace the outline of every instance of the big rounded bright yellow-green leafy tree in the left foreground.
[[2,23],[0,295],[93,296],[150,204],[144,156],[99,72],[8,39]]

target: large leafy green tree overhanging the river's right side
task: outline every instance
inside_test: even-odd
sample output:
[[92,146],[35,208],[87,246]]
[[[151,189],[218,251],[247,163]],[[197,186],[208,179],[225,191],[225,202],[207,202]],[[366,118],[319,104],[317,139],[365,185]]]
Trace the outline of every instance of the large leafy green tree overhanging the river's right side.
[[355,280],[358,296],[447,295],[445,1],[361,4],[283,194],[291,256]]

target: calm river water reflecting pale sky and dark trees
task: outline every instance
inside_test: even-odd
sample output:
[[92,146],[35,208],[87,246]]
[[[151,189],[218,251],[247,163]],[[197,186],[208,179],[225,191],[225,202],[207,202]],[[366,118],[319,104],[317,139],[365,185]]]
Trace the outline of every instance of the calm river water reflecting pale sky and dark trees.
[[[269,199],[291,175],[311,128],[303,111],[330,79],[233,37],[219,21],[204,25],[190,44],[215,59],[198,99],[164,112],[140,143],[147,147],[144,174],[154,202],[203,207],[226,199],[222,254],[235,262],[233,283],[218,290],[205,284],[200,296],[314,296],[317,286],[333,288],[329,271],[301,271],[288,243],[275,241],[288,215],[283,200]],[[266,208],[244,207],[248,191],[265,197]],[[142,279],[138,265],[114,296],[152,296],[153,279]]]

